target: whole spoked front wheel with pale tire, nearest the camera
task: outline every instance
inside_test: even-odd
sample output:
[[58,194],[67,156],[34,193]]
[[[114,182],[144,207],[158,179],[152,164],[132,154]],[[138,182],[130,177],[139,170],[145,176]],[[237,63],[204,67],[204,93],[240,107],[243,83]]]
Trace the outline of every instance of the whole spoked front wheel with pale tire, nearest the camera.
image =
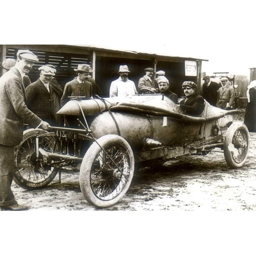
[[83,196],[96,207],[117,203],[128,190],[134,174],[134,156],[129,143],[117,135],[94,142],[80,168]]

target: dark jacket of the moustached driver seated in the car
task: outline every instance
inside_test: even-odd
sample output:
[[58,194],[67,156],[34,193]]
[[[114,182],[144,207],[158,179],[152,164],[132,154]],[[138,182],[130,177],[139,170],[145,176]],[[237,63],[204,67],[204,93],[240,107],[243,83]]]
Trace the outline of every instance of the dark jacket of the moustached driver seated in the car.
[[180,102],[180,108],[189,115],[199,116],[204,111],[204,98],[194,93],[187,98],[186,102],[185,99]]

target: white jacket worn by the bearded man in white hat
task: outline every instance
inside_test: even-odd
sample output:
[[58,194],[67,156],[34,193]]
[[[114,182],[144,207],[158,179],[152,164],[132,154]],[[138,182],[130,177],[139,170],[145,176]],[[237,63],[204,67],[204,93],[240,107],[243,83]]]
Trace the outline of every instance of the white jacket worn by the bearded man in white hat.
[[121,77],[111,83],[110,97],[131,97],[138,94],[135,83],[129,79],[122,81]]

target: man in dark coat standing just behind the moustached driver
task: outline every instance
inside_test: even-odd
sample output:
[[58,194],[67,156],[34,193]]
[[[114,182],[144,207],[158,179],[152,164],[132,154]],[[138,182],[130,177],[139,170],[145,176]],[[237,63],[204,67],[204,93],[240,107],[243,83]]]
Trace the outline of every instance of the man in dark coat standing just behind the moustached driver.
[[218,97],[218,90],[221,87],[217,82],[211,81],[209,76],[203,78],[203,96],[206,101],[215,106]]

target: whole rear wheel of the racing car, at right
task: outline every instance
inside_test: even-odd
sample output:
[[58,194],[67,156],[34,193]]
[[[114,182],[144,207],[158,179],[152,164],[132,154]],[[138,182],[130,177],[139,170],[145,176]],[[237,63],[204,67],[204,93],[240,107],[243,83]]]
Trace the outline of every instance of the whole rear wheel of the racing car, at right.
[[250,135],[245,124],[234,122],[230,125],[224,140],[224,157],[231,168],[244,165],[250,147]]

